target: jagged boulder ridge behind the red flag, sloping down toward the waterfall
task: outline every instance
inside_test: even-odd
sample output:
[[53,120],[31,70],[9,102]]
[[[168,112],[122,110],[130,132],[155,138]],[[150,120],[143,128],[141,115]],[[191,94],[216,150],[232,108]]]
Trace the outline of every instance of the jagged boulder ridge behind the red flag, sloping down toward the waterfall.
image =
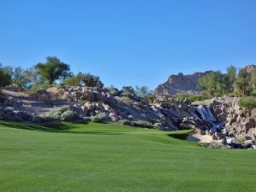
[[84,116],[106,113],[108,120],[122,119],[130,121],[147,121],[158,125],[161,130],[178,130],[183,119],[192,117],[195,108],[186,102],[155,102],[148,104],[138,96],[112,96],[107,89],[89,87],[68,87],[64,90],[63,100],[77,102],[70,106]]

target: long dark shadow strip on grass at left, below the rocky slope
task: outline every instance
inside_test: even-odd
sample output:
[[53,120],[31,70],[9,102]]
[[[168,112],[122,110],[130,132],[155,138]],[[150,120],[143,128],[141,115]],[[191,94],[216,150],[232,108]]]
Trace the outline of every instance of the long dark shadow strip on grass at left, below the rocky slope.
[[122,133],[112,131],[71,131],[73,127],[65,124],[59,125],[31,125],[24,123],[17,123],[13,121],[0,121],[0,126],[15,128],[20,130],[28,131],[43,131],[43,132],[54,132],[54,133],[73,133],[73,134],[97,134],[97,135],[121,135]]

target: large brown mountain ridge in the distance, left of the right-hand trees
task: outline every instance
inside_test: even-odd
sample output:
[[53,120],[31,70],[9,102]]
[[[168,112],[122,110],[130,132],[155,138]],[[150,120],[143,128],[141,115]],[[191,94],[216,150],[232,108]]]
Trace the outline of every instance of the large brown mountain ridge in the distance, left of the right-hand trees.
[[198,81],[201,77],[211,72],[207,71],[205,73],[193,73],[189,75],[178,73],[177,75],[171,75],[166,83],[160,84],[154,90],[154,94],[156,96],[175,96],[178,92],[185,91],[188,94],[201,95],[203,91],[197,89]]

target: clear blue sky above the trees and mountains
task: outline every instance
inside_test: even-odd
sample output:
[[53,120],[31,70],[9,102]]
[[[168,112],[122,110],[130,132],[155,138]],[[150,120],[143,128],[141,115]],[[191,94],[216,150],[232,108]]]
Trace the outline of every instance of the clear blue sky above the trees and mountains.
[[106,85],[256,63],[255,0],[1,0],[0,62],[55,55]]

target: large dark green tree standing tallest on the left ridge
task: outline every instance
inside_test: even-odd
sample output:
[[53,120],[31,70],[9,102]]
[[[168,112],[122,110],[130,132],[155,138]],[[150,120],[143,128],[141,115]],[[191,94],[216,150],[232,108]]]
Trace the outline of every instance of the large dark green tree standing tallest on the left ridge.
[[39,62],[36,65],[38,72],[43,79],[48,80],[49,84],[53,84],[55,80],[67,78],[70,75],[69,66],[61,62],[55,56],[48,56],[45,63]]

